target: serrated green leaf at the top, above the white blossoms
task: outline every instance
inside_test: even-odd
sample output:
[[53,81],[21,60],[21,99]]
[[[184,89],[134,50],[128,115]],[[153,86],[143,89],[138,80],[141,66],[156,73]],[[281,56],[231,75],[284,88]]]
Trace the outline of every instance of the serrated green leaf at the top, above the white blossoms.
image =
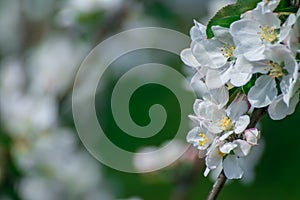
[[208,38],[214,36],[211,27],[222,26],[229,27],[232,22],[240,19],[241,14],[256,7],[261,0],[238,0],[235,4],[227,5],[217,12],[217,14],[208,22],[206,34]]

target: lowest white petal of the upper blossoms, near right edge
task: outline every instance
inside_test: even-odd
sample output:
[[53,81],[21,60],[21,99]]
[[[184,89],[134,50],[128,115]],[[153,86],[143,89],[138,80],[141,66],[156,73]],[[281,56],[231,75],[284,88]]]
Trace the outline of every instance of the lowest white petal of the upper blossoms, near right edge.
[[282,95],[278,96],[269,106],[268,113],[273,120],[281,120],[287,115],[294,113],[299,102],[299,93],[296,93],[290,100],[289,106],[283,101]]

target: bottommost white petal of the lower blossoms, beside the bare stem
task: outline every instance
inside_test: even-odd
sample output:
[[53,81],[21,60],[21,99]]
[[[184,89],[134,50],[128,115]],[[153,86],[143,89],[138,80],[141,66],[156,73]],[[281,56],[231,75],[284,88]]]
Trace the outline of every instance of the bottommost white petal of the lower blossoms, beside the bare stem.
[[224,162],[223,168],[225,176],[228,179],[240,179],[243,176],[243,170],[239,166],[238,159],[235,155],[228,155]]

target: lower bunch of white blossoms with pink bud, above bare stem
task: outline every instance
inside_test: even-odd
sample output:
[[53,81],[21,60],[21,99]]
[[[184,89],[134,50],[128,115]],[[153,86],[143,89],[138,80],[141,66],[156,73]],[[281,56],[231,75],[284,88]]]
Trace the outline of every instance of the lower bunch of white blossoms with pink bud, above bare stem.
[[[223,91],[221,91],[223,90]],[[226,88],[219,89],[221,102],[228,101]],[[195,116],[190,116],[197,124],[187,135],[187,141],[199,150],[199,156],[206,156],[205,176],[214,169],[224,169],[229,179],[241,178],[243,170],[240,159],[246,157],[252,146],[257,145],[259,131],[247,128],[250,117],[247,97],[239,94],[225,108],[211,98],[198,99],[194,103]],[[233,154],[232,154],[233,153]]]

